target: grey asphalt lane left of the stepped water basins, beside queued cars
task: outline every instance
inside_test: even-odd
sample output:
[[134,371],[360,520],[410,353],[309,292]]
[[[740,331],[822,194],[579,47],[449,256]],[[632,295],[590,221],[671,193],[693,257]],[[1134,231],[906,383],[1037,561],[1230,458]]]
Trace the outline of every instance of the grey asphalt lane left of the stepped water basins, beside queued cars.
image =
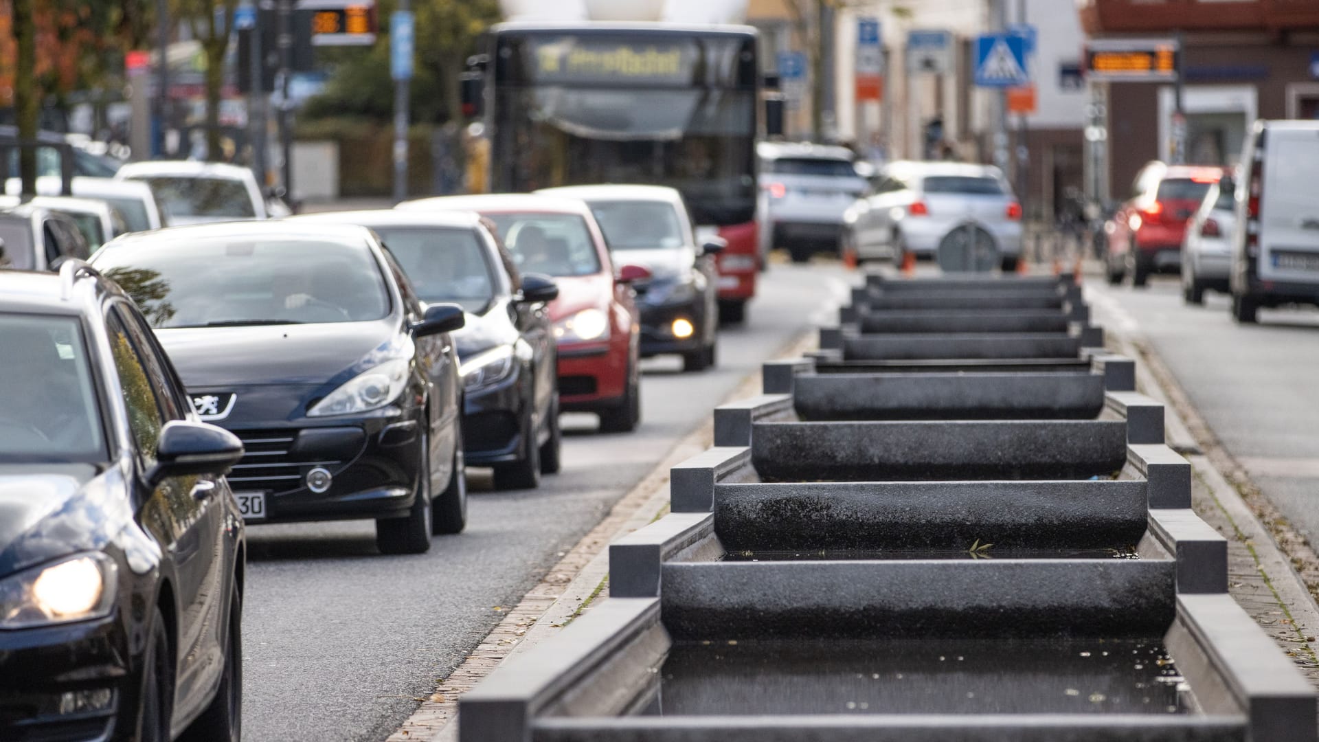
[[426,555],[380,556],[371,522],[249,528],[244,739],[388,737],[493,628],[496,606],[516,605],[712,407],[845,300],[836,263],[761,276],[748,323],[720,335],[718,368],[648,360],[634,433],[601,436],[594,416],[565,416],[563,471],[538,490],[474,491],[467,531]]

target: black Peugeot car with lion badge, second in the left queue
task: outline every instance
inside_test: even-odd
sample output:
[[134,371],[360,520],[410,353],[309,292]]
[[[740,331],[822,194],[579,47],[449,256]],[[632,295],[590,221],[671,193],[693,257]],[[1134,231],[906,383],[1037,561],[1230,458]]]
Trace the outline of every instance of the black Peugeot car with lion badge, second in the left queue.
[[372,518],[385,553],[463,529],[463,310],[422,308],[369,230],[174,227],[94,264],[137,300],[202,420],[247,446],[230,483],[248,523]]

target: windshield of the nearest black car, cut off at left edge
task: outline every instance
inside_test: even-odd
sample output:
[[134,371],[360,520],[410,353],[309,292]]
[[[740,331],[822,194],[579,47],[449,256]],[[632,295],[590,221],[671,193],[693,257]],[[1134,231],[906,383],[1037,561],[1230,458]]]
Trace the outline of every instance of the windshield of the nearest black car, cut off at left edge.
[[108,458],[78,321],[0,314],[0,462]]

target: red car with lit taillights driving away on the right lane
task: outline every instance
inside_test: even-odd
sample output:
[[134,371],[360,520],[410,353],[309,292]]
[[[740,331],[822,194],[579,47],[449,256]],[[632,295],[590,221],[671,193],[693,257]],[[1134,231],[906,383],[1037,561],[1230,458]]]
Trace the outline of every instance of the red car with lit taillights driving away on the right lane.
[[1132,197],[1104,224],[1108,283],[1121,284],[1130,273],[1132,285],[1144,287],[1150,273],[1179,272],[1186,222],[1223,172],[1158,161],[1141,168]]

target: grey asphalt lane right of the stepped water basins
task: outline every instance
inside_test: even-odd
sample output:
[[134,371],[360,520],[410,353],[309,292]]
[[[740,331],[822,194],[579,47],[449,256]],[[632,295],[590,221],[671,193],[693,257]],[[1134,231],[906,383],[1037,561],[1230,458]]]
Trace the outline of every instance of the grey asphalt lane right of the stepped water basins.
[[1116,300],[1250,479],[1319,544],[1319,312],[1261,309],[1260,325],[1237,325],[1223,294],[1186,306],[1175,277],[1089,287]]

